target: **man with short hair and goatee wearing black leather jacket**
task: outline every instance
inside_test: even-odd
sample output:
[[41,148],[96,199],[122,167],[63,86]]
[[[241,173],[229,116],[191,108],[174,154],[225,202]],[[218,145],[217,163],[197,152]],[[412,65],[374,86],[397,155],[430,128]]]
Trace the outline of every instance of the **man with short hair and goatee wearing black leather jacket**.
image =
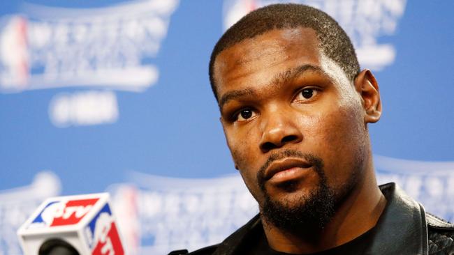
[[[226,140],[260,214],[191,254],[454,254],[454,226],[378,187],[367,125],[379,86],[320,10],[255,10],[212,52]],[[184,254],[174,252],[173,254]]]

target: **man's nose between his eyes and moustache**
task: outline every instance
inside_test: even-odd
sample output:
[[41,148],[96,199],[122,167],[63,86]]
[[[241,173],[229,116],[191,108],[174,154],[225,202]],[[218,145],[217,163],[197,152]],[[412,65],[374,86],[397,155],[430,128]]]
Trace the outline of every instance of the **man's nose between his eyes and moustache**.
[[297,144],[302,141],[302,132],[298,128],[297,118],[287,111],[274,111],[268,114],[263,123],[263,134],[260,141],[260,149],[263,153],[275,148],[281,148],[286,144]]

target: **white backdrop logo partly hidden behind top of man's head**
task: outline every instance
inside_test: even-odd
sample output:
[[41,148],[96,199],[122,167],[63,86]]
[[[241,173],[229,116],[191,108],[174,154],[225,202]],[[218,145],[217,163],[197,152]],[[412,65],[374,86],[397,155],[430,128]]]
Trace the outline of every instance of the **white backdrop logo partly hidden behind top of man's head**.
[[[224,29],[251,10],[284,0],[224,0]],[[381,70],[394,62],[396,51],[390,43],[379,43],[380,36],[392,36],[404,14],[407,0],[295,0],[321,9],[339,22],[349,34],[360,64]]]

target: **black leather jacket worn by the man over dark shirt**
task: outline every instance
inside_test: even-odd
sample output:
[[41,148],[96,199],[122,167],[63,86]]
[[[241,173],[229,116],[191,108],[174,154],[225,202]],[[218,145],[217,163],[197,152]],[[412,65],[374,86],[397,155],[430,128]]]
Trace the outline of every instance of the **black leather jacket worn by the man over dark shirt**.
[[[454,255],[454,225],[425,212],[423,206],[394,183],[380,186],[388,203],[376,224],[365,254]],[[238,249],[253,229],[261,228],[258,215],[218,245],[188,255],[239,255]],[[170,254],[187,254],[186,250]],[[170,255],[169,254],[169,255]],[[244,255],[244,254],[242,254]]]

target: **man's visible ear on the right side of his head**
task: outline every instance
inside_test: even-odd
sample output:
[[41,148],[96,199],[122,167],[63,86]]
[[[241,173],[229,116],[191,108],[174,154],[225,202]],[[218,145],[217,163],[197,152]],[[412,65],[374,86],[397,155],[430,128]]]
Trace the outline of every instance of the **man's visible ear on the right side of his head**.
[[364,123],[376,123],[381,116],[379,84],[370,70],[363,70],[355,79],[355,88],[359,93],[365,110]]

